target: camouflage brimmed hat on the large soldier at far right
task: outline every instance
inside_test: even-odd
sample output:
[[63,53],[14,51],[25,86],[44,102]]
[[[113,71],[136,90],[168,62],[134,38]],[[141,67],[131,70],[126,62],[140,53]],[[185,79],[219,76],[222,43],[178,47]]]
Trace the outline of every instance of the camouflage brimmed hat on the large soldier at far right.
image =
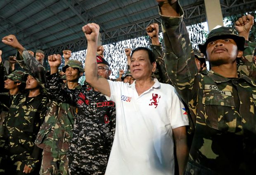
[[207,44],[213,40],[218,40],[218,39],[233,39],[236,44],[237,44],[237,48],[241,51],[244,50],[244,43],[245,43],[245,39],[244,37],[240,37],[237,34],[237,30],[235,30],[235,28],[232,27],[223,27],[221,26],[220,28],[216,28],[211,30],[211,32],[209,33],[209,35],[206,38],[205,43],[203,44],[199,44],[198,47],[201,51],[201,53],[205,54],[206,53],[206,47]]

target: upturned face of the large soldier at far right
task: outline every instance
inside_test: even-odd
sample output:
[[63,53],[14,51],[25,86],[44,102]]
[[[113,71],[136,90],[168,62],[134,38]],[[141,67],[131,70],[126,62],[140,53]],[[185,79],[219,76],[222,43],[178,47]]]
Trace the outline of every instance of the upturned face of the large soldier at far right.
[[237,44],[232,39],[214,40],[206,47],[206,55],[211,66],[234,63],[236,58],[242,56],[242,51],[237,50]]

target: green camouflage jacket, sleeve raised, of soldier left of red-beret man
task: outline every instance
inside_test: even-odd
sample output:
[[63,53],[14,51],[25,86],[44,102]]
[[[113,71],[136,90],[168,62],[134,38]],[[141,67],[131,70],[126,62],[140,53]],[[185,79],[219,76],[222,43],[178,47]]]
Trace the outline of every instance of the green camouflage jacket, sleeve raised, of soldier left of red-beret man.
[[[17,52],[17,58],[21,67],[35,77],[41,86],[45,87],[45,74],[47,71],[43,65],[28,54],[26,49],[23,51],[22,56]],[[62,86],[62,88],[68,89],[66,85]],[[76,86],[76,89],[81,89],[81,85]],[[48,97],[51,98],[52,95],[48,94]],[[54,158],[57,158],[59,154],[66,154],[73,135],[75,116],[76,107],[51,99],[47,104],[45,120],[36,137],[36,145],[48,152],[52,152]]]

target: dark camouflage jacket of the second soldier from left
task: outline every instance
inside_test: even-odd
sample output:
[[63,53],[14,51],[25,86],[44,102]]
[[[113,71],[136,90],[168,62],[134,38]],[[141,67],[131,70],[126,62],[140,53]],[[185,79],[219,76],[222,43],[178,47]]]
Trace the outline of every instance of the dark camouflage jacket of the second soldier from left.
[[13,98],[3,124],[2,159],[8,156],[18,167],[24,162],[32,168],[40,166],[42,153],[34,141],[45,118],[47,103],[43,94],[28,97],[28,94],[20,93]]

